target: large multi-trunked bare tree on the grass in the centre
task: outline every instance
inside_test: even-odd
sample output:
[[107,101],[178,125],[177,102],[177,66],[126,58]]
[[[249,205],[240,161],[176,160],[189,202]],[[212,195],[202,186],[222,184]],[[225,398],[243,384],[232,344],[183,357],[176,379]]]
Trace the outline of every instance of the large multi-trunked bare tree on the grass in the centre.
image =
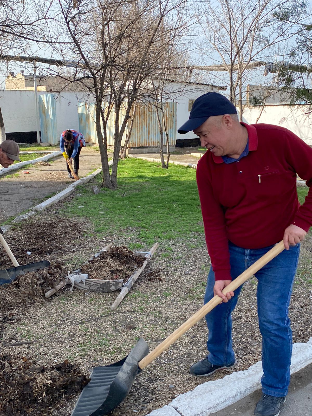
[[[88,79],[96,104],[95,123],[103,167],[103,186],[116,188],[121,139],[141,87],[166,59],[168,43],[187,28],[181,17],[186,1],[57,0],[55,24],[64,25],[71,45],[62,56],[76,60],[74,80]],[[82,67],[83,64],[83,67]],[[88,84],[87,83],[87,84]],[[114,114],[114,157],[109,174],[107,123]]]

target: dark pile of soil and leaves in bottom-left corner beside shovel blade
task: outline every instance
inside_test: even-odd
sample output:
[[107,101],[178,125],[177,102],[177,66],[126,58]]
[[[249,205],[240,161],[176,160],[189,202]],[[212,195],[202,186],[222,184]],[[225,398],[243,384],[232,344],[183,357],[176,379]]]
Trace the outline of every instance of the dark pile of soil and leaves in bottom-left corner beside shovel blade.
[[50,367],[25,357],[0,356],[0,414],[46,416],[63,397],[79,393],[88,377],[67,360]]

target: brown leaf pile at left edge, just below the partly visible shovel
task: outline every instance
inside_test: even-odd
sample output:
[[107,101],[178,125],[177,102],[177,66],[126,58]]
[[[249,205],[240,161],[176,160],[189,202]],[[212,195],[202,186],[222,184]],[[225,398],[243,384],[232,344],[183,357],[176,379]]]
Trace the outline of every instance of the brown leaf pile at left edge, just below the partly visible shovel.
[[45,300],[45,293],[57,285],[64,276],[66,272],[59,263],[18,276],[9,285],[0,286],[0,311],[7,312],[21,305],[42,302]]

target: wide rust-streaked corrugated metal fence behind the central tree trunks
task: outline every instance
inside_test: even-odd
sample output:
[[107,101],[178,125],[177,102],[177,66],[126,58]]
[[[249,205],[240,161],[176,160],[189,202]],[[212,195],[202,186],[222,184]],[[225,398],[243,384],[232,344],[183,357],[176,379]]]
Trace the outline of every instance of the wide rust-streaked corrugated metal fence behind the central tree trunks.
[[[170,145],[176,144],[176,111],[177,104],[175,102],[165,103],[164,119],[167,126]],[[122,107],[119,114],[119,125],[121,125],[125,114],[126,110]],[[159,112],[159,116],[162,122],[161,112]],[[79,102],[78,119],[79,131],[84,135],[86,141],[88,143],[97,144],[98,141],[97,131],[95,127],[95,104]],[[115,112],[112,110],[107,122],[107,144],[110,146],[114,146],[114,123]],[[128,131],[126,128],[121,144],[124,144],[127,132]],[[137,104],[131,139],[129,141],[128,147],[159,146],[159,141],[159,129],[155,106],[153,106],[153,104]],[[165,138],[163,139],[163,144],[166,144]]]

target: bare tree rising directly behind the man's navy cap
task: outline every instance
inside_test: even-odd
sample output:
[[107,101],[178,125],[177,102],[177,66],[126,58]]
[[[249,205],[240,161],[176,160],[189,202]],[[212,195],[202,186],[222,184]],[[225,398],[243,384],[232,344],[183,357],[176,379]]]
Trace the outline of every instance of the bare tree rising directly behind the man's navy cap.
[[[286,4],[292,6],[296,22],[275,18],[274,13]],[[241,120],[245,84],[255,76],[253,62],[285,54],[304,13],[301,1],[280,0],[216,0],[203,11],[203,54],[227,70],[229,98],[238,105]]]

